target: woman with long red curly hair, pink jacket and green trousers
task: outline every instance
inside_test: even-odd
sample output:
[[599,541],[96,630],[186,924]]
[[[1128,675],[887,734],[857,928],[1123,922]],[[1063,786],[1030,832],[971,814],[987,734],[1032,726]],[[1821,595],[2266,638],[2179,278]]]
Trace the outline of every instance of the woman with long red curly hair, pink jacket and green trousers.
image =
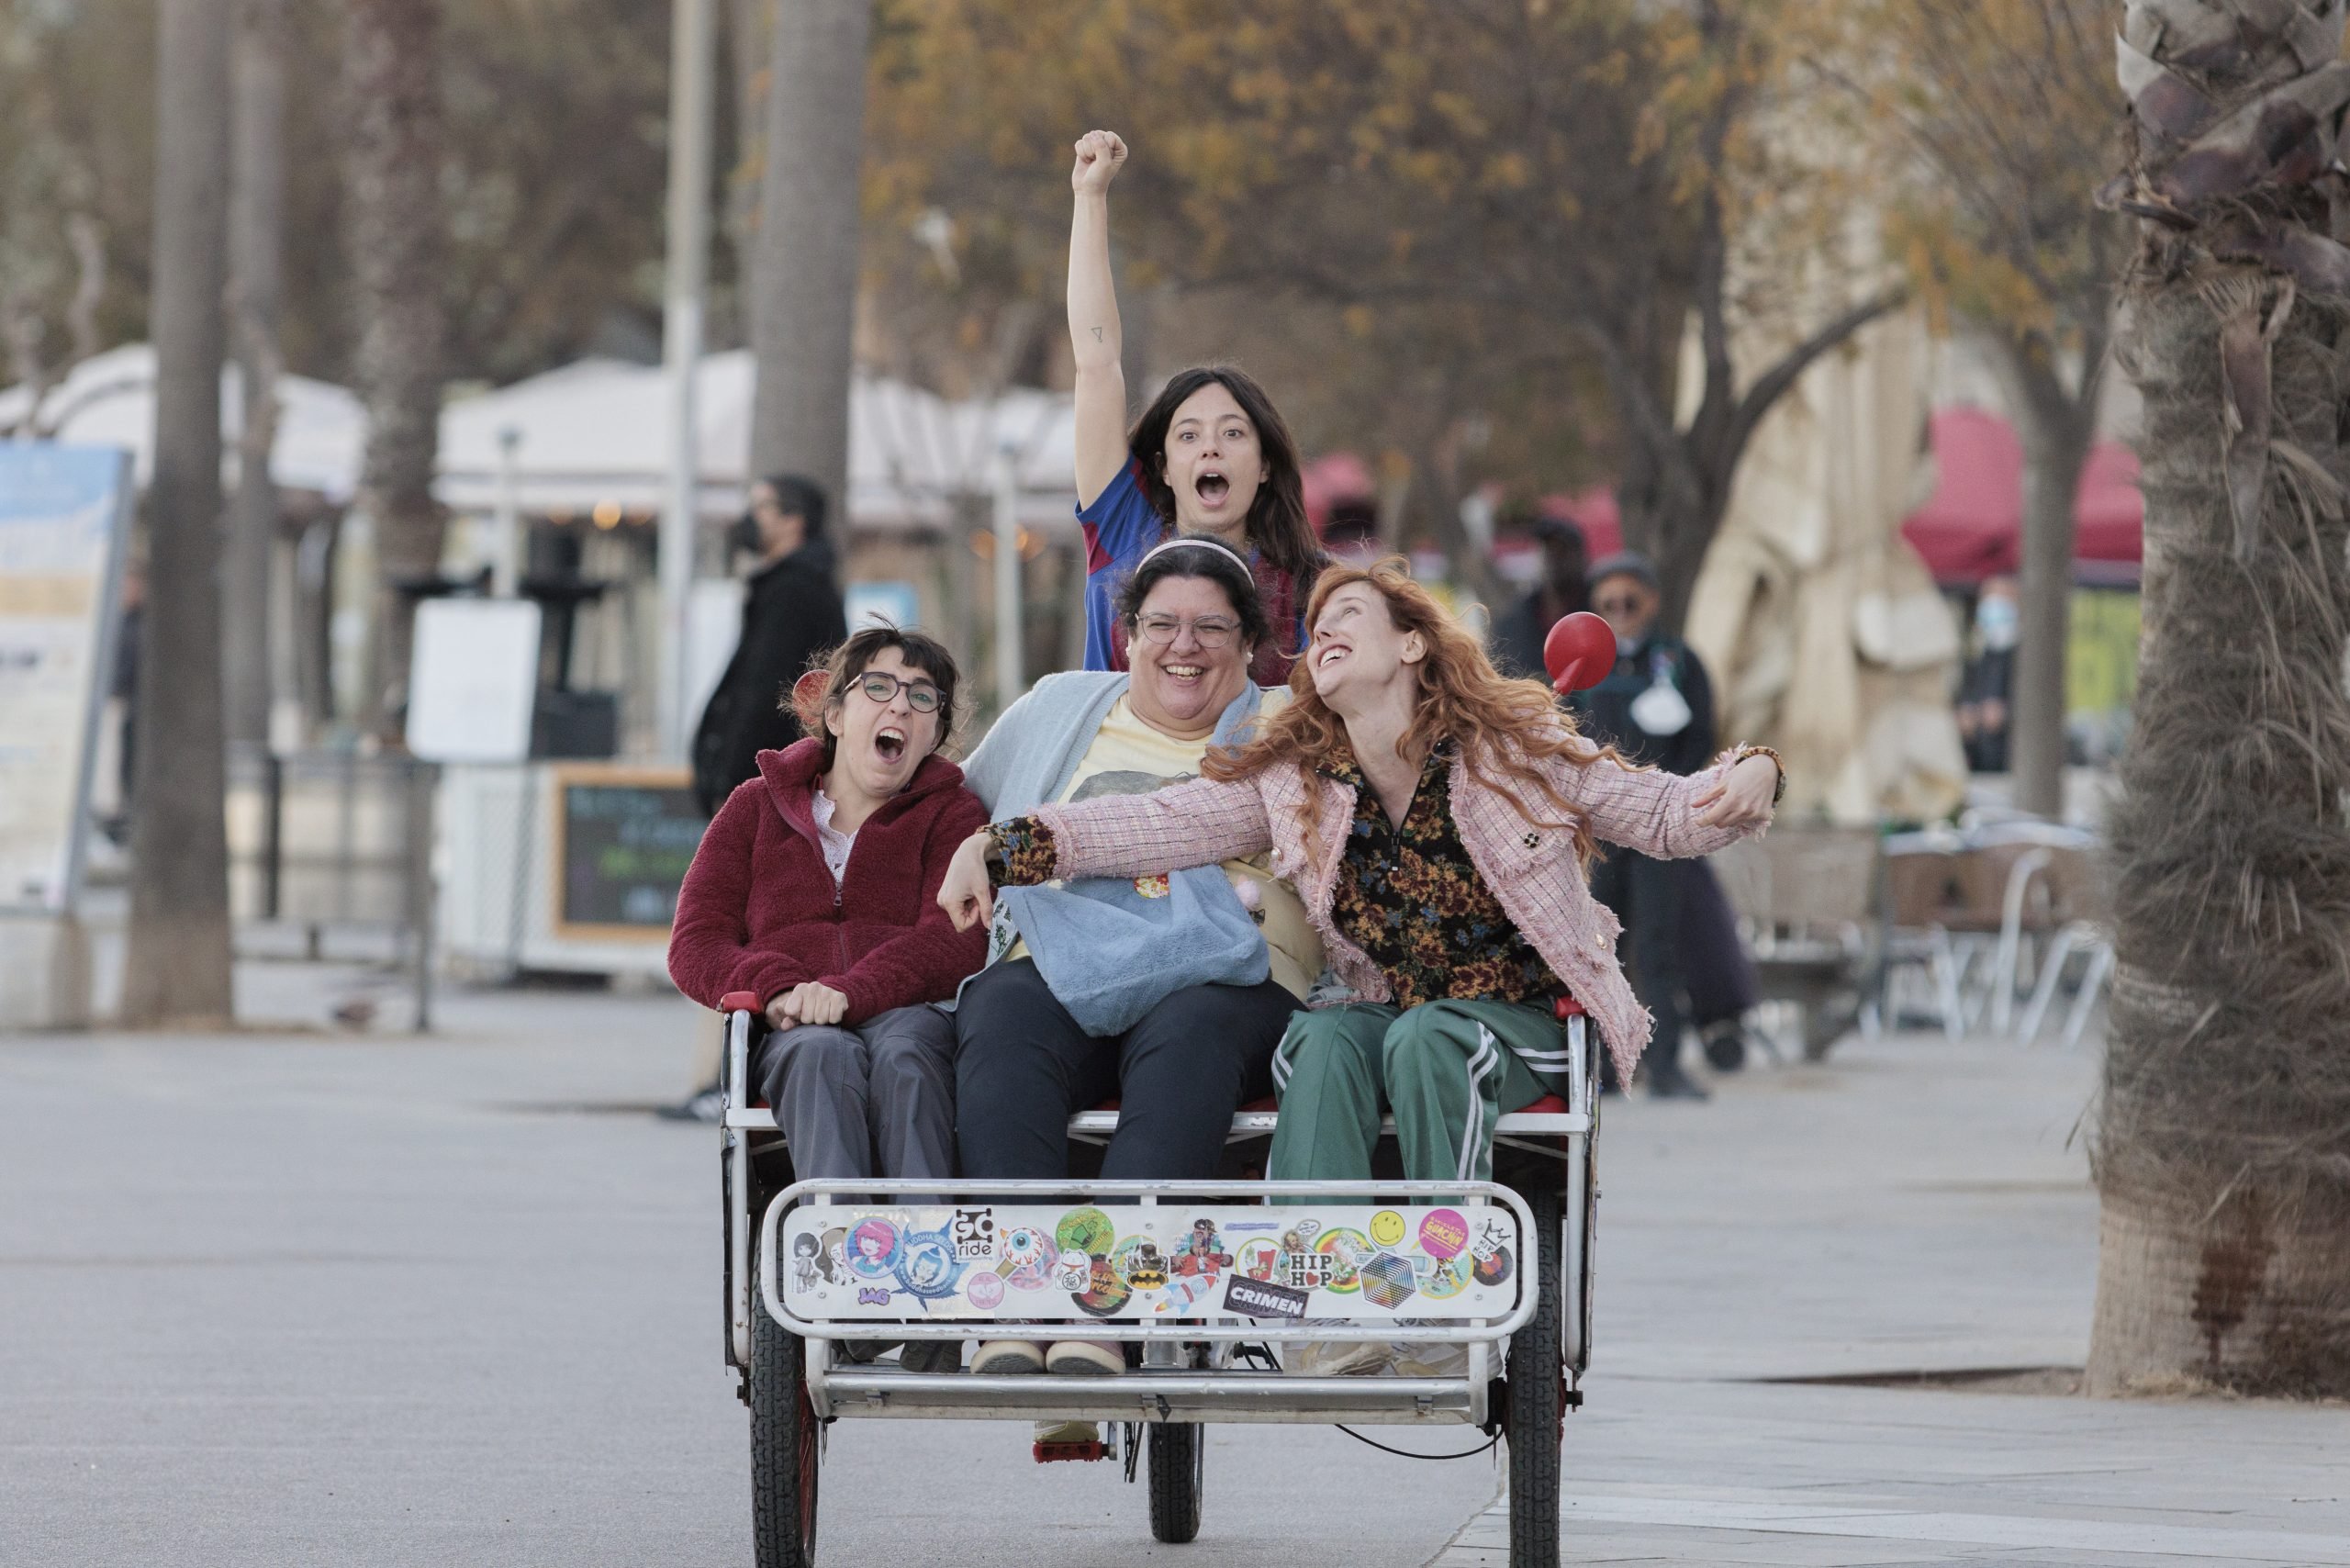
[[1394,1110],[1405,1175],[1485,1180],[1492,1126],[1556,1093],[1556,999],[1577,997],[1624,1081],[1650,1018],[1586,886],[1596,842],[1704,856],[1760,832],[1779,759],[1680,778],[1591,745],[1539,682],[1504,679],[1401,559],[1323,571],[1295,701],[1206,778],[1039,806],[956,851],[959,926],[999,884],[1173,872],[1264,853],[1349,994],[1316,994],[1274,1053],[1274,1180],[1368,1180]]

